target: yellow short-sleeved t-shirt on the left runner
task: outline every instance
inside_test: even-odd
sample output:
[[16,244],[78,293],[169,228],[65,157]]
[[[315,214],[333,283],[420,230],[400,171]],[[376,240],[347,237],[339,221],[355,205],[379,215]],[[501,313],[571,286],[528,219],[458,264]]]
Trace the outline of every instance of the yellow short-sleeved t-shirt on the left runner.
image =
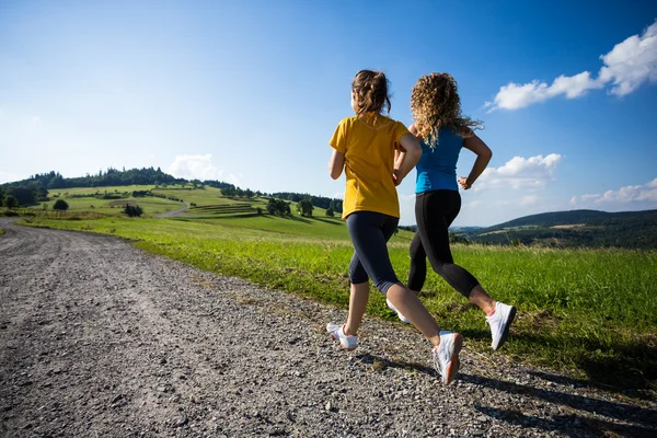
[[377,211],[400,217],[392,181],[394,151],[408,129],[403,123],[378,116],[376,126],[357,116],[341,120],[328,145],[345,154],[347,187],[343,219],[354,211]]

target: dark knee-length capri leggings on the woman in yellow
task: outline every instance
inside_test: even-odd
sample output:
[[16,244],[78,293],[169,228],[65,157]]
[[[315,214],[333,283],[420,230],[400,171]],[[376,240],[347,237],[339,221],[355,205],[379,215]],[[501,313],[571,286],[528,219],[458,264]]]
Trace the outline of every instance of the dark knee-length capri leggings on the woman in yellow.
[[349,263],[349,279],[358,285],[372,279],[377,289],[385,295],[400,283],[388,255],[388,241],[394,233],[399,219],[374,211],[356,211],[347,217],[347,228],[354,243]]

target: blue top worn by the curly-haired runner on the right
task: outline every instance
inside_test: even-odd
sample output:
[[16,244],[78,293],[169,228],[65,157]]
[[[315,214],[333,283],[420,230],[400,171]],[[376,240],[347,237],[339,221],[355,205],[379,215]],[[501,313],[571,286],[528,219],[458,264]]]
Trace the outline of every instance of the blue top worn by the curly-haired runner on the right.
[[415,168],[417,178],[415,193],[429,191],[459,191],[457,185],[457,161],[463,147],[463,137],[452,132],[451,127],[438,132],[438,141],[431,148],[425,141],[422,145],[422,158]]

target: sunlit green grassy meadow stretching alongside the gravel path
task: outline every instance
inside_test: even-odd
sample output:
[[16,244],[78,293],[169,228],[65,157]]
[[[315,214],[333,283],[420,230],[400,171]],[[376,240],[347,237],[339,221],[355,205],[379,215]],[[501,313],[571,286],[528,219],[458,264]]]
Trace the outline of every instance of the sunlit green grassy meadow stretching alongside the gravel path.
[[[73,198],[76,203],[65,214],[35,207],[24,221],[130,239],[146,251],[205,270],[239,276],[346,310],[353,250],[339,218],[328,218],[318,208],[312,218],[303,218],[293,205],[291,217],[270,216],[266,199],[229,199],[217,189],[169,188],[165,194],[195,203],[197,208],[187,210],[188,216],[154,218],[163,209],[181,208],[181,203],[137,198],[145,215],[127,218],[120,209],[95,198]],[[84,208],[83,203],[91,199],[97,205]],[[153,203],[155,199],[162,203]],[[244,205],[251,210],[244,212]],[[265,214],[254,212],[258,206]],[[231,215],[231,208],[238,212]],[[400,230],[389,244],[402,281],[408,275],[412,237]],[[465,336],[466,353],[544,366],[600,385],[636,389],[654,396],[657,252],[457,244],[453,254],[493,298],[512,303],[519,311],[510,341],[503,350],[492,353],[483,312],[430,272],[420,297],[441,326]],[[370,296],[368,314],[401,324],[378,292]]]

